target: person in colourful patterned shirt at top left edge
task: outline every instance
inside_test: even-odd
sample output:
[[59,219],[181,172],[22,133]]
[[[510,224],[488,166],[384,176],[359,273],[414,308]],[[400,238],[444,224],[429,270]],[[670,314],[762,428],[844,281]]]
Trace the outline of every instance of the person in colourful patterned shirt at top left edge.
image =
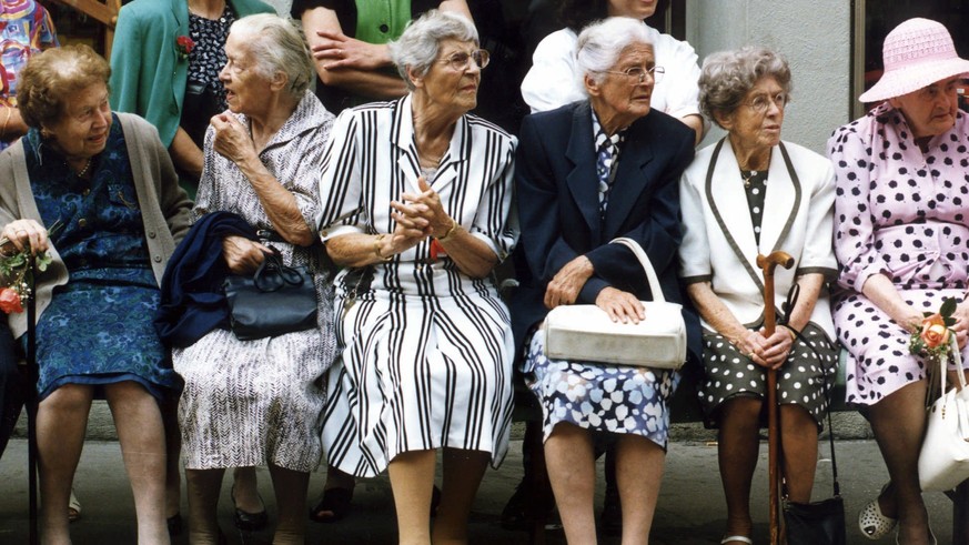
[[0,150],[27,133],[17,75],[31,54],[58,47],[50,13],[34,0],[0,0]]

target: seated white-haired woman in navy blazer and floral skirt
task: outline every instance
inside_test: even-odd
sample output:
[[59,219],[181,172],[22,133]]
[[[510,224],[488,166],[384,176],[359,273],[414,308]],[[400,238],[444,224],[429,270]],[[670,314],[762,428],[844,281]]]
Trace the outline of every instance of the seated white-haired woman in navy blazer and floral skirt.
[[[659,67],[646,27],[612,18],[578,37],[576,64],[588,100],[525,118],[515,173],[523,279],[513,316],[524,339],[523,371],[544,413],[545,455],[565,535],[595,543],[594,440],[616,445],[623,543],[646,543],[659,493],[674,371],[549,360],[538,324],[562,304],[595,304],[616,321],[643,320],[653,299],[627,236],[649,256],[668,301],[679,301],[677,180],[694,133],[654,111]],[[686,316],[698,353],[696,319]],[[605,401],[608,402],[605,402]],[[569,407],[582,406],[582,411]],[[586,408],[588,407],[588,408]]]

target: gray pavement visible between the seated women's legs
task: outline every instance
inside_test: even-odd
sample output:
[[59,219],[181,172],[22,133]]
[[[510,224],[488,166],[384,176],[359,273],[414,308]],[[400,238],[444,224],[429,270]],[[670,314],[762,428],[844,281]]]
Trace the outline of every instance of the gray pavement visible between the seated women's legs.
[[[848,517],[848,543],[871,544],[855,527],[861,506],[877,494],[887,480],[878,448],[872,441],[839,441],[838,463],[841,474],[841,491]],[[485,474],[471,516],[472,544],[525,544],[527,535],[507,532],[499,518],[505,501],[522,476],[521,441],[513,441],[508,456],[498,471]],[[827,446],[822,447],[827,456]],[[767,543],[767,476],[766,445],[761,448],[761,462],[754,482],[755,543]],[[269,472],[258,471],[260,490],[273,518],[272,485]],[[311,482],[311,498],[315,499],[325,473],[315,473]],[[818,467],[815,498],[831,493],[830,463],[822,460]],[[121,462],[117,442],[91,441],[85,443],[78,475],[74,482],[83,504],[82,517],[72,524],[73,541],[79,545],[123,545],[135,542],[134,508],[131,491]],[[229,497],[231,477],[225,480],[220,502],[220,519],[231,544],[269,544],[271,533],[240,533],[232,524],[232,504]],[[603,477],[599,463],[598,503],[602,503]],[[27,493],[27,441],[12,440],[0,460],[0,544],[27,543],[28,528]],[[951,502],[942,494],[926,494],[932,527],[940,544],[951,543]],[[182,512],[188,513],[184,499]],[[652,543],[662,545],[694,545],[719,543],[725,525],[726,509],[717,474],[716,445],[704,441],[674,441],[669,445],[666,474],[653,526]],[[393,497],[385,476],[363,480],[357,485],[354,511],[337,524],[309,523],[310,544],[393,544]],[[549,529],[551,544],[565,543],[561,529]],[[186,544],[183,534],[173,541]],[[602,543],[619,543],[618,538],[603,538]],[[894,543],[894,536],[882,543]]]

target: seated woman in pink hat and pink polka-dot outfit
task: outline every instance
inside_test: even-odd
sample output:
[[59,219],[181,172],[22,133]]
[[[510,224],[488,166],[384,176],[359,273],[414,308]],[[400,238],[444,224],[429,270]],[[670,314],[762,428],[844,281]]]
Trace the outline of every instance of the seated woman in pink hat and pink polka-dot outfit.
[[860,513],[872,539],[899,523],[898,541],[935,543],[918,480],[926,415],[926,361],[909,353],[923,312],[946,297],[969,357],[969,215],[958,109],[960,59],[946,28],[910,19],[885,39],[885,73],[860,97],[879,102],[828,141],[835,163],[835,252],[840,265],[835,325],[848,350],[848,402],[862,407],[891,482]]

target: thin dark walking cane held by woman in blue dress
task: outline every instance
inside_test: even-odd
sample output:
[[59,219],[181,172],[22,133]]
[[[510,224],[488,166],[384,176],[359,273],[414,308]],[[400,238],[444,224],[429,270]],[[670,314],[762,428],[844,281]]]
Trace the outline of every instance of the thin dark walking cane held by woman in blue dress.
[[30,502],[30,528],[28,538],[30,545],[40,543],[37,531],[37,258],[29,254],[27,266],[30,270],[30,283],[27,289],[30,295],[27,300],[27,475],[30,481],[28,494]]

